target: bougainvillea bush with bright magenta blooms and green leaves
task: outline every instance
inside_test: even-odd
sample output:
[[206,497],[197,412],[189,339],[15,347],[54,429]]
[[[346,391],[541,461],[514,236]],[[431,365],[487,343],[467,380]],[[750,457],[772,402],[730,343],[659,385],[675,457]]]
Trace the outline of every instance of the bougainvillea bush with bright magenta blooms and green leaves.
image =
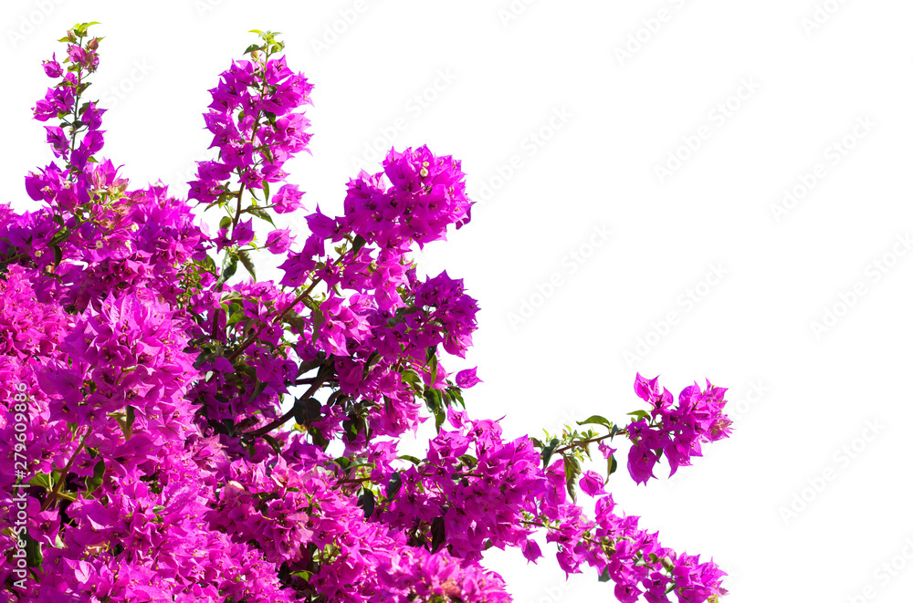
[[[509,601],[493,546],[555,555],[621,601],[725,594],[717,565],[662,546],[606,491],[614,438],[646,483],[662,457],[675,473],[728,436],[725,390],[676,400],[637,375],[646,410],[626,424],[506,440],[466,410],[476,369],[445,368],[472,344],[476,300],[410,259],[468,224],[460,162],[392,150],[350,180],[342,215],[308,212],[283,166],[307,151],[312,86],[257,31],[210,90],[217,158],[188,197],[134,187],[100,156],[91,25],[43,63],[34,116],[55,161],[26,176],[36,209],[0,205],[6,600]],[[221,213],[215,235],[196,208]],[[306,240],[275,226],[283,213]],[[263,249],[284,258],[278,283],[256,280]],[[423,421],[424,457],[405,454]],[[605,473],[584,471],[593,457]]]

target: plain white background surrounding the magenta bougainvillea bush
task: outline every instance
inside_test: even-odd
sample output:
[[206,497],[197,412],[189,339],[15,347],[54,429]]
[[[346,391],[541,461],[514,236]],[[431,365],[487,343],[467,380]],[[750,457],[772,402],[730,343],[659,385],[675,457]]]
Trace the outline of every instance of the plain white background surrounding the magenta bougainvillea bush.
[[[316,86],[313,156],[290,179],[311,208],[341,212],[366,144],[389,148],[384,133],[463,161],[474,220],[422,265],[464,278],[482,307],[476,347],[448,365],[479,367],[475,416],[506,415],[511,437],[565,416],[624,421],[642,408],[637,371],[675,392],[709,378],[730,388],[732,437],[647,487],[631,483],[623,452],[620,508],[666,546],[713,556],[731,603],[909,600],[913,259],[899,242],[913,231],[913,5],[5,0],[0,11],[0,201],[35,208],[22,179],[51,155],[30,109],[50,82],[40,59],[59,56],[69,26],[97,20],[106,36],[90,88],[110,108],[103,154],[133,185],[161,178],[179,193],[210,141],[206,89],[256,41],[248,29],[281,31],[289,65]],[[784,204],[784,189],[802,198]],[[840,316],[816,330],[825,309]],[[591,573],[565,584],[549,559],[489,559],[519,602],[612,600]],[[892,561],[894,576],[879,570]]]

